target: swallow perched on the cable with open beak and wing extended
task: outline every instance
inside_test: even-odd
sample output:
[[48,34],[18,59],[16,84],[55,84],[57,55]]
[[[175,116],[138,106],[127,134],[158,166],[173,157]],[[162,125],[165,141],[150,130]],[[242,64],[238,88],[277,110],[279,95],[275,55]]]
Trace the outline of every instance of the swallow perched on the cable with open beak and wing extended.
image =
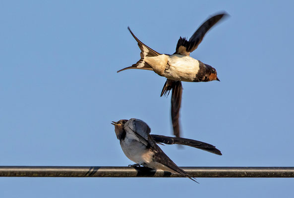
[[156,143],[186,145],[222,155],[219,149],[207,143],[185,138],[150,135],[149,126],[139,119],[113,121],[112,124],[115,125],[115,132],[122,151],[127,158],[136,163],[133,166],[142,165],[152,169],[169,171],[195,181],[179,168]]

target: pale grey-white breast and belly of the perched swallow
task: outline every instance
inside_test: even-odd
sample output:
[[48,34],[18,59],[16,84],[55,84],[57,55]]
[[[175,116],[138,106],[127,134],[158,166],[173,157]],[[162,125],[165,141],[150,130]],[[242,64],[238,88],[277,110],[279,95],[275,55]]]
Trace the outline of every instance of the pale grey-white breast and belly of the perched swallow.
[[152,161],[153,152],[140,141],[126,137],[120,142],[121,149],[125,156],[135,163],[150,163]]

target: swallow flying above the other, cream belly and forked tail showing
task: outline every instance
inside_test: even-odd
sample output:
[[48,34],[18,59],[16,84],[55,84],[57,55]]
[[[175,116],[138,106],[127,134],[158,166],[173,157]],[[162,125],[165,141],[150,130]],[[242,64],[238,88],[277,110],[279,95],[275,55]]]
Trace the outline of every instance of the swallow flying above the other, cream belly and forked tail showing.
[[121,69],[118,72],[126,69],[145,69],[154,71],[158,75],[167,78],[160,96],[168,96],[172,90],[172,122],[174,135],[176,135],[176,137],[180,136],[178,118],[182,95],[181,81],[220,81],[217,77],[217,71],[215,68],[208,64],[204,64],[200,60],[192,58],[190,52],[197,49],[207,31],[226,15],[228,14],[221,13],[209,18],[196,30],[196,32],[194,32],[189,41],[186,38],[179,37],[176,44],[176,52],[172,55],[162,54],[149,48],[137,39],[128,27],[128,30],[141,49],[141,59],[136,64]]

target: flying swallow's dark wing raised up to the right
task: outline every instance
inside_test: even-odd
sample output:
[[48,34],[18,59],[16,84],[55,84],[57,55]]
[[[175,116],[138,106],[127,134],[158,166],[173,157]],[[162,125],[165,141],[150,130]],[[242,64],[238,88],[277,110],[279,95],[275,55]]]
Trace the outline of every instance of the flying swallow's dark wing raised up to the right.
[[226,15],[228,14],[221,13],[209,18],[194,32],[189,41],[186,38],[179,37],[175,54],[190,55],[190,52],[197,49],[207,31]]

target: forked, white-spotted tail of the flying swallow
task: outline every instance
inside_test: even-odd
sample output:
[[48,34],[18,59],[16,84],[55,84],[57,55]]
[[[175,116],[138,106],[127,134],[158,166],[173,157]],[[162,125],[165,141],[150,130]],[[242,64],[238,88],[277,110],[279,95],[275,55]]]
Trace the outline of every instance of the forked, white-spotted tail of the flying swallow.
[[157,51],[149,48],[148,46],[146,46],[145,44],[143,44],[130,30],[129,27],[127,27],[127,29],[130,31],[131,35],[134,37],[134,39],[137,41],[139,48],[141,49],[141,53],[140,53],[140,60],[136,63],[133,64],[132,66],[123,68],[118,70],[118,72],[126,70],[126,69],[145,69],[145,70],[151,70],[153,71],[153,68],[147,63],[145,62],[144,58],[146,56],[148,57],[153,57],[153,56],[158,56],[161,55],[161,53],[158,53]]

